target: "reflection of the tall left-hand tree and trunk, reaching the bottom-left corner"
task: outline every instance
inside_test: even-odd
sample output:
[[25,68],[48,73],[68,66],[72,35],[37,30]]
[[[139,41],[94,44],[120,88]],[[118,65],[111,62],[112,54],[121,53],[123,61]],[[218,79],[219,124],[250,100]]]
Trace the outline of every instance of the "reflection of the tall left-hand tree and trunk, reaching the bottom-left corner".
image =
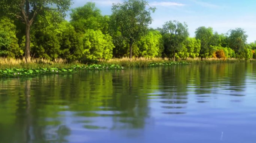
[[[44,106],[42,102],[37,102],[36,100],[40,94],[31,95],[31,87],[33,87],[32,85],[34,84],[32,83],[33,80],[34,79],[25,79],[25,81],[20,81],[21,86],[15,89],[17,90],[16,95],[12,97],[18,97],[16,99],[16,108],[13,108],[16,110],[15,119],[12,125],[0,128],[0,132],[5,131],[5,137],[1,137],[0,142],[45,143],[48,142],[49,139],[51,139],[52,142],[67,142],[65,137],[70,134],[69,128],[56,123],[50,125],[47,121],[48,117],[39,115]],[[23,83],[24,86],[22,86]],[[23,91],[23,93],[19,91]]]

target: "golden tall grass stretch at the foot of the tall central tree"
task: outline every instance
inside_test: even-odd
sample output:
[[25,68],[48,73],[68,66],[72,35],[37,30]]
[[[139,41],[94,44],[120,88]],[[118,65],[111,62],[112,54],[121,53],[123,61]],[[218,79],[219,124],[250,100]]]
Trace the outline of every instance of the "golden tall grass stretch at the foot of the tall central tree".
[[168,62],[169,58],[112,58],[110,60],[99,60],[100,64],[118,64],[123,67],[147,67],[150,63],[165,63]]

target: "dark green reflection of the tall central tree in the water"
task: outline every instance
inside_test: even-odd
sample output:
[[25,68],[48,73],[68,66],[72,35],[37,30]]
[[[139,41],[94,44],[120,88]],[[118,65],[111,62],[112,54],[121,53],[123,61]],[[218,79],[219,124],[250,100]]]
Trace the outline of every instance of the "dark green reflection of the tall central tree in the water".
[[108,105],[115,111],[111,129],[144,127],[149,107],[143,93],[150,84],[149,76],[152,76],[145,72],[142,69],[127,69],[112,73],[112,90],[115,92]]

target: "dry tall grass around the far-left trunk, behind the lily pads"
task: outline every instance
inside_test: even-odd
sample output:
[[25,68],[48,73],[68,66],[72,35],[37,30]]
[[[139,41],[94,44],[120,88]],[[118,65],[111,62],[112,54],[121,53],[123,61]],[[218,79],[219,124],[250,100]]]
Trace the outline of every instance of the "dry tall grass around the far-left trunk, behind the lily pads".
[[33,69],[38,67],[69,67],[78,64],[78,61],[69,63],[66,59],[57,58],[55,60],[47,60],[43,58],[31,58],[28,63],[25,63],[25,58],[15,59],[15,58],[4,58],[0,57],[0,69],[11,69],[11,68],[25,68]]

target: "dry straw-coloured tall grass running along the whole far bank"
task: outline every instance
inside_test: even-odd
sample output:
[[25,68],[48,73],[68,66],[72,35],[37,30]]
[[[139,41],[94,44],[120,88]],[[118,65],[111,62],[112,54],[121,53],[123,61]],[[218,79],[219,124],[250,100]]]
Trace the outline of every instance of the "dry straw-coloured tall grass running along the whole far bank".
[[[98,64],[115,64],[123,67],[147,67],[152,63],[167,63],[172,61],[169,58],[112,58],[110,60],[101,59],[97,63]],[[229,58],[229,59],[218,59],[218,58],[187,58],[186,60],[178,60],[178,61],[186,61],[191,64],[200,64],[200,63],[234,63],[234,62],[244,62],[246,60],[241,60],[237,58]],[[255,59],[250,59],[250,62],[256,62]],[[0,69],[36,69],[38,67],[58,67],[58,68],[67,68],[74,65],[84,65],[79,61],[69,62],[66,59],[57,58],[55,60],[47,60],[43,58],[31,58],[29,63],[25,63],[25,58],[22,59],[14,59],[14,58],[3,58],[0,57]],[[158,64],[156,64],[158,65]]]

